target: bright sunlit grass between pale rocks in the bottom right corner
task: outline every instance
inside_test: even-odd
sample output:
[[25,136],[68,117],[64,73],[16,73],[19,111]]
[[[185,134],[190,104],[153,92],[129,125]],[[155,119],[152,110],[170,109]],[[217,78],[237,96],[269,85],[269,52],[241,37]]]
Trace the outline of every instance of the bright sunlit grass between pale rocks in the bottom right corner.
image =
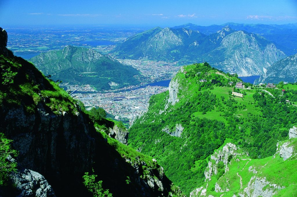
[[[229,140],[230,142],[230,140]],[[284,142],[290,142],[290,146],[297,147],[297,139],[290,139]],[[221,150],[225,143],[218,149]],[[283,143],[283,142],[282,142]],[[216,151],[217,152],[217,151]],[[217,180],[215,175],[212,175],[211,180],[203,184],[203,187],[207,188],[207,195],[219,196],[224,194],[224,196],[233,196],[237,195],[238,192],[245,193],[244,188],[246,188],[253,176],[256,176],[258,179],[266,177],[266,181],[271,184],[276,184],[280,187],[284,187],[282,190],[279,190],[275,196],[296,196],[297,194],[297,172],[293,166],[297,165],[296,156],[293,156],[286,161],[283,160],[277,154],[275,158],[269,156],[263,159],[251,159],[247,155],[240,155],[241,150],[237,150],[236,158],[231,160],[231,163],[228,164],[229,171],[227,171],[221,178]],[[242,152],[241,152],[242,154]],[[212,160],[212,163],[215,163]],[[254,174],[252,171],[249,171],[249,168],[255,169],[257,171]],[[242,188],[240,188],[240,177],[242,177]],[[228,183],[227,181],[228,180]],[[215,187],[215,184],[218,184],[223,190],[226,188],[229,189],[228,192],[217,193],[212,191],[211,188]],[[266,185],[262,190],[273,189],[271,186]]]

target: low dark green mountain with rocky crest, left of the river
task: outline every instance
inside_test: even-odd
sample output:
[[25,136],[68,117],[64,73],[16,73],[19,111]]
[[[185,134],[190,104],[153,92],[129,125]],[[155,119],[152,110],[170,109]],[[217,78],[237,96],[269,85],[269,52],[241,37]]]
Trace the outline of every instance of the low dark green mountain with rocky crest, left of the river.
[[135,75],[140,72],[124,66],[109,55],[84,47],[67,46],[62,50],[41,53],[29,61],[53,80],[70,84],[90,84],[97,90],[122,88],[140,82]]

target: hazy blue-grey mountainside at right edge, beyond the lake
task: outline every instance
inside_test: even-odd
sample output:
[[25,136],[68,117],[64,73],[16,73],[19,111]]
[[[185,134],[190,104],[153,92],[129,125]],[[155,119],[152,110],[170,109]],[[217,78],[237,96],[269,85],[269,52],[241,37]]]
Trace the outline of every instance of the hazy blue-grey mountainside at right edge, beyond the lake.
[[259,82],[297,82],[297,54],[277,61],[260,77]]

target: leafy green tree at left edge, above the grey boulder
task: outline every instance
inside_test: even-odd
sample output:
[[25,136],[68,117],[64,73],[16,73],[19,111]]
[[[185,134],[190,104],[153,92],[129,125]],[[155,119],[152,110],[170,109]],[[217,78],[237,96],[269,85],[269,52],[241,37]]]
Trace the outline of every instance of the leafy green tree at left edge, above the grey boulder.
[[16,171],[17,163],[8,161],[10,155],[17,156],[17,151],[10,146],[12,140],[5,138],[3,133],[0,133],[0,185],[6,185],[8,174]]

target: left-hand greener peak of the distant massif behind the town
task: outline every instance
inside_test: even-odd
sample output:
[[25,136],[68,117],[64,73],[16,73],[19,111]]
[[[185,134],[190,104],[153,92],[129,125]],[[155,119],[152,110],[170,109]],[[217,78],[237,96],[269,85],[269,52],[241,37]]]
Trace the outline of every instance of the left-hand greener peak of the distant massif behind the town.
[[154,28],[136,34],[113,51],[120,58],[177,61],[189,45],[197,45],[206,35],[186,28]]

